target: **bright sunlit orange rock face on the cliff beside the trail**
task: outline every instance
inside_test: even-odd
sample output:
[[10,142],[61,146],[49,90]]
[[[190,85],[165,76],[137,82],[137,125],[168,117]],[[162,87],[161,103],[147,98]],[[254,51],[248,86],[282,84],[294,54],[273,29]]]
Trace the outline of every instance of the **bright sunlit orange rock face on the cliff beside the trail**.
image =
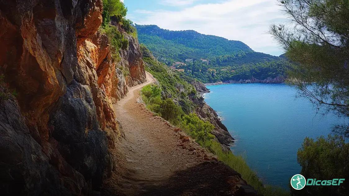
[[98,32],[79,44],[76,76],[80,83],[91,89],[101,128],[118,130],[111,96],[112,86],[117,84],[113,80],[116,71],[109,52],[107,37]]

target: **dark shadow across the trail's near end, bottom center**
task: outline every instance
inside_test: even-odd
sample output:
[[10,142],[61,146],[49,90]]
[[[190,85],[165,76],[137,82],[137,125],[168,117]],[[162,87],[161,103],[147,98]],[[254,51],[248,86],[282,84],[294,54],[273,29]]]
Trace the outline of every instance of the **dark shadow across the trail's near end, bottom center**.
[[175,173],[160,185],[144,187],[139,196],[161,195],[247,195],[256,191],[241,178],[240,174],[222,162],[204,162]]

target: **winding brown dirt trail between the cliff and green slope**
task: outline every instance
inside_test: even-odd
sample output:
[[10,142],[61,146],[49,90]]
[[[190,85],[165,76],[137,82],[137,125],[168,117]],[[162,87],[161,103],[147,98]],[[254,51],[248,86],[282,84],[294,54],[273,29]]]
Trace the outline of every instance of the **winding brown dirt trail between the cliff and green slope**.
[[112,152],[118,165],[105,182],[104,195],[231,195],[244,184],[239,174],[215,161],[192,139],[137,102],[140,89],[129,88],[114,105],[125,139]]

